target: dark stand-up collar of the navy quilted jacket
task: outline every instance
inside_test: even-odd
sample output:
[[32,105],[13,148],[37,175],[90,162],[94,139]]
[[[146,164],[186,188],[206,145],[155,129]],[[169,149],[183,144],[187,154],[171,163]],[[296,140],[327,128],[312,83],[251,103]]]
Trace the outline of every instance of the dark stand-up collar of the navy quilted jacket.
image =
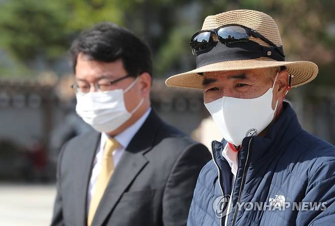
[[[253,153],[250,156],[250,163],[253,163],[269,158],[274,152],[285,148],[301,130],[302,128],[298,122],[295,111],[288,102],[284,102],[281,115],[269,127],[267,134],[265,136],[245,137],[242,142],[242,147],[247,147],[249,140],[253,138]],[[227,142],[224,139],[221,142],[213,142],[214,157],[226,161],[221,154],[226,144]]]

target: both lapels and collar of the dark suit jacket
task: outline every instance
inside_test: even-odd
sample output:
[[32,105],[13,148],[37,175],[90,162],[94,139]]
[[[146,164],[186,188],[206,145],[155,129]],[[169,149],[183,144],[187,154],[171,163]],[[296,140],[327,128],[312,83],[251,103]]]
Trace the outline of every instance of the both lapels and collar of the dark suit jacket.
[[[151,110],[142,127],[139,128],[131,139],[129,145],[126,147],[118,166],[115,168],[113,176],[108,182],[93,218],[92,225],[103,224],[108,214],[115,208],[128,185],[149,162],[145,157],[145,153],[149,152],[152,147],[154,147],[156,135],[161,125],[162,121],[156,115],[155,111]],[[96,131],[88,134],[88,137],[83,139],[82,146],[79,147],[86,154],[83,153],[78,157],[78,163],[80,164],[76,164],[74,169],[76,172],[76,177],[74,178],[76,203],[78,204],[77,206],[81,207],[76,209],[78,225],[87,225],[86,200],[88,184],[100,135],[101,133]]]

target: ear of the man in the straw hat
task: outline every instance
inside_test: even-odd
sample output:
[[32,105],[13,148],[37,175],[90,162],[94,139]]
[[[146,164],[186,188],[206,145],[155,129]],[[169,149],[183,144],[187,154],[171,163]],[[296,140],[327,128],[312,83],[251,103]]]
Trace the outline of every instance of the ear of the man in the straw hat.
[[288,85],[289,85],[289,73],[287,73],[287,71],[285,70],[280,71],[273,86],[272,109],[275,108],[277,101],[278,101],[277,108],[279,107],[279,105],[283,101]]

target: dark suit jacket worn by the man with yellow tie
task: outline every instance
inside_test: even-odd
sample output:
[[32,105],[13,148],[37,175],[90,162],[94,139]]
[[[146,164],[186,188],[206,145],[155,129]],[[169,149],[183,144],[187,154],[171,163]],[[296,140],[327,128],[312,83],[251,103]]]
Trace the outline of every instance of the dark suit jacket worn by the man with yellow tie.
[[[51,225],[87,225],[87,192],[100,133],[62,149]],[[207,148],[161,121],[152,110],[109,180],[92,225],[186,225]]]

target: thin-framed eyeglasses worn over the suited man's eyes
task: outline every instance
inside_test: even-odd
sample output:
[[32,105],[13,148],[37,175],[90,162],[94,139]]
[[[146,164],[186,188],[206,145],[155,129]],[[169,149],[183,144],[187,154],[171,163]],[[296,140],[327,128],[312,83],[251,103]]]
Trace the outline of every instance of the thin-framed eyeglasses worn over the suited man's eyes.
[[[125,78],[128,77],[134,77],[133,75],[125,75],[121,78],[118,78],[116,80],[111,81],[110,79],[107,78],[101,78],[98,81],[96,81],[94,83],[94,87],[96,90],[100,91],[100,92],[104,92],[104,91],[110,91],[113,90],[113,85],[118,82],[121,81]],[[82,93],[82,94],[86,94],[89,93],[91,90],[91,85],[90,83],[86,82],[86,81],[82,81],[79,80],[76,83],[71,85],[71,88],[76,92],[76,93]]]

